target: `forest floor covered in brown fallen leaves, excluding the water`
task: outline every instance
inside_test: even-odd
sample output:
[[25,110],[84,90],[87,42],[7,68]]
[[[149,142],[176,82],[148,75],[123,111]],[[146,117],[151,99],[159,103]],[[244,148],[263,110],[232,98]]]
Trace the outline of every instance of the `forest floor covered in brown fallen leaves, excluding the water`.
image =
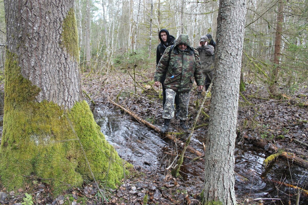
[[[163,124],[161,88],[152,86],[153,72],[136,73],[136,93],[133,77],[129,73],[110,71],[107,77],[84,73],[82,75],[83,90],[96,104],[116,108],[110,102],[114,101],[142,119],[161,127]],[[286,92],[286,89],[281,89],[281,91]],[[197,95],[196,88],[191,92],[188,119],[190,127],[204,93],[201,96]],[[270,99],[266,87],[254,83],[247,84],[246,91],[241,94],[237,122],[237,146],[250,146],[253,142],[261,140],[263,142],[261,146],[264,146],[262,149],[270,153],[275,153],[275,148],[277,148],[292,153],[302,160],[308,160],[308,147],[300,144],[308,143],[307,86],[303,85],[294,89],[282,100]],[[84,97],[91,104],[85,95]],[[208,123],[209,104],[210,98],[205,104],[205,113],[200,117],[197,125]],[[172,132],[183,131],[179,128],[177,120],[172,120],[170,130]],[[200,130],[206,135],[207,125],[198,128],[198,131]],[[190,183],[187,183],[184,179],[172,177],[170,171],[166,169],[152,170],[135,166],[128,178],[126,183],[123,181],[123,184],[116,190],[103,190],[108,196],[107,204],[200,204],[199,194],[203,188],[203,180],[198,177],[189,179]],[[58,197],[49,195],[46,184],[36,181],[33,186],[33,190],[27,190],[25,187],[19,189],[18,193],[6,193],[6,188],[0,187],[0,202],[21,205],[22,197],[25,196],[24,192],[36,192],[32,196],[37,204],[97,204],[102,199],[97,194],[96,185],[91,183],[84,183],[83,187],[71,188]],[[243,204],[243,200],[238,199],[238,204]]]

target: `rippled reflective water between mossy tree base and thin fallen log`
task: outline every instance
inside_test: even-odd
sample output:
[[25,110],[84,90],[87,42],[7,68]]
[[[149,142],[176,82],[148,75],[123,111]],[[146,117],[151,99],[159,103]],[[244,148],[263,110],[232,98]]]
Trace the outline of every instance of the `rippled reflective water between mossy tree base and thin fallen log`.
[[130,120],[120,110],[98,107],[94,116],[106,140],[123,159],[139,166],[154,165],[148,168],[156,168],[157,153],[167,146],[156,132]]

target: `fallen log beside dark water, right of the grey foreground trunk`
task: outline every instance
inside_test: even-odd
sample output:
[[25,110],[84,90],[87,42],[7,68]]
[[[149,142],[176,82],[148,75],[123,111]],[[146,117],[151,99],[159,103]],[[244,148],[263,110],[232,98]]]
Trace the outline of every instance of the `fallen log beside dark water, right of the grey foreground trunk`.
[[[244,136],[245,139],[248,139],[247,136]],[[267,148],[267,150],[271,150],[274,152],[279,152],[279,148],[276,147],[275,145],[271,144],[269,145],[265,140],[260,139],[260,140],[253,140],[253,144],[260,147],[260,148]],[[304,168],[308,168],[308,161],[303,160],[297,156],[295,156],[295,154],[292,153],[288,153],[288,152],[281,152],[281,154],[279,156],[282,156],[283,158],[291,161],[292,163],[296,163]]]

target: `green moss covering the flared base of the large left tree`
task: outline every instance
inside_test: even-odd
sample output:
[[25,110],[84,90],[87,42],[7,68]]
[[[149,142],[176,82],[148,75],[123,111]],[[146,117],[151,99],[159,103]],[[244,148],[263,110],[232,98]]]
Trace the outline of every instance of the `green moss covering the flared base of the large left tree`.
[[[92,179],[79,140],[97,180],[115,187],[123,163],[95,123],[87,102],[64,110],[48,101],[35,102],[40,89],[21,75],[15,54],[7,52],[5,106],[0,147],[0,175],[9,190],[23,187],[31,174],[55,191]],[[73,129],[71,128],[71,124]],[[79,139],[79,140],[78,140]]]

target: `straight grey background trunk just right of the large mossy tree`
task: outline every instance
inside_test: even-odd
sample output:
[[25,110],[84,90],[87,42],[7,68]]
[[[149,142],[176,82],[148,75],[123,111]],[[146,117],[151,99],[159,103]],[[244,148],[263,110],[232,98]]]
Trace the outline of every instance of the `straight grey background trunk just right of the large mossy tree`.
[[86,28],[85,28],[85,49],[86,49],[86,66],[91,66],[91,39],[90,39],[90,25],[91,25],[91,17],[90,17],[90,0],[87,0],[87,12],[86,12]]

